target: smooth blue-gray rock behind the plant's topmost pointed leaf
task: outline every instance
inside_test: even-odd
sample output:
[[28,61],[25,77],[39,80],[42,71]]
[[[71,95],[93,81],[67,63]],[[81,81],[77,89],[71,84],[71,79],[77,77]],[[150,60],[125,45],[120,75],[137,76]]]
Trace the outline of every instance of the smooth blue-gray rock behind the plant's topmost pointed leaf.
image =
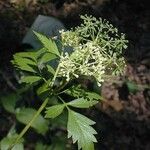
[[34,35],[33,31],[53,37],[59,36],[59,30],[61,29],[65,29],[65,27],[59,20],[54,17],[39,15],[25,35],[22,44],[28,44],[34,49],[39,49],[42,45]]

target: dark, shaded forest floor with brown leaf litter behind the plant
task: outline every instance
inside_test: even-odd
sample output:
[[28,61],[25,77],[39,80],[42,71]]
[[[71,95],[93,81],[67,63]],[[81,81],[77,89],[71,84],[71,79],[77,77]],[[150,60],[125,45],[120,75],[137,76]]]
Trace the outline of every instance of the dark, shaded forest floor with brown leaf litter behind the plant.
[[[103,0],[104,1],[104,0]],[[106,1],[106,0],[105,0]],[[101,94],[106,102],[92,115],[97,122],[101,150],[150,150],[150,8],[148,0],[55,0],[46,3],[10,3],[0,0],[0,92],[14,90],[14,53],[23,51],[21,41],[39,15],[54,16],[66,28],[80,24],[80,14],[109,20],[129,40],[125,52],[126,73],[106,81]],[[134,83],[134,84],[132,84]],[[0,115],[3,110],[0,107]],[[0,134],[7,127],[2,125]]]

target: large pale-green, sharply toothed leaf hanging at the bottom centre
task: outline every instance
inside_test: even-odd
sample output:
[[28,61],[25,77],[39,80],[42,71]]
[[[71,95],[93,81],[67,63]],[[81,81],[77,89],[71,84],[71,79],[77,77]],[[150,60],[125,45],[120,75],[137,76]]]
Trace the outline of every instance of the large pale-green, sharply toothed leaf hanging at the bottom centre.
[[94,134],[97,132],[91,127],[95,124],[89,118],[74,112],[68,111],[68,138],[72,137],[73,143],[78,142],[78,149],[94,150],[93,142],[97,142]]

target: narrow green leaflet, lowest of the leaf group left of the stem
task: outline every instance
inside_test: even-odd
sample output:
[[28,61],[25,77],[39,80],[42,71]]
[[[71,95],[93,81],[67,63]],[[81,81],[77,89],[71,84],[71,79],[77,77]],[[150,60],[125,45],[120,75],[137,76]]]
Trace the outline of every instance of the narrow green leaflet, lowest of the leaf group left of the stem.
[[32,84],[34,82],[37,82],[41,80],[42,78],[40,76],[26,76],[21,78],[21,82]]

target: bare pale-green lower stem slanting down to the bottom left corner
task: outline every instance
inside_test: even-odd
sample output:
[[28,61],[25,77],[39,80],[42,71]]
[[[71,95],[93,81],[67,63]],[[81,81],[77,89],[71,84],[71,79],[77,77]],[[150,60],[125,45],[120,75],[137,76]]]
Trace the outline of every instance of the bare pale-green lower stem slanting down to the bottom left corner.
[[15,142],[12,145],[10,145],[10,147],[8,148],[8,150],[11,150],[15,146],[15,144],[17,144],[18,141],[23,137],[23,135],[27,132],[27,130],[33,124],[33,122],[35,121],[35,119],[39,116],[39,114],[41,113],[41,111],[45,108],[45,106],[47,105],[47,103],[48,103],[48,98],[42,103],[42,105],[40,106],[40,108],[38,109],[38,111],[36,112],[36,114],[33,116],[33,118],[31,119],[31,121],[21,131],[21,133],[18,135],[18,137],[15,140]]

